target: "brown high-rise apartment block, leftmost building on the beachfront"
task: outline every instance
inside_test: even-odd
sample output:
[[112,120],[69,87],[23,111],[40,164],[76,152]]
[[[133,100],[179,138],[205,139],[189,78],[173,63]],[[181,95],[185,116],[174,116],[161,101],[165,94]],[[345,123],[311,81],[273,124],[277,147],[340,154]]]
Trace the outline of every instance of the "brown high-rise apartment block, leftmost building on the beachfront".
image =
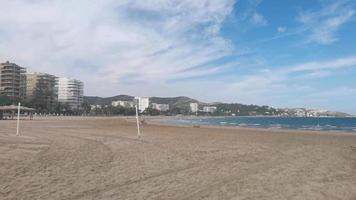
[[10,63],[0,64],[0,95],[13,100],[24,100],[26,97],[26,69]]

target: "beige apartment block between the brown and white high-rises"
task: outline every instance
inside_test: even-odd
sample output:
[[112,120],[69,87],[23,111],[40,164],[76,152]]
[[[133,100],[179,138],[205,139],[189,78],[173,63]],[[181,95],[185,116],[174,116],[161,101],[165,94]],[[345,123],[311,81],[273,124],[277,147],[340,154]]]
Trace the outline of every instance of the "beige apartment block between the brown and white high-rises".
[[26,101],[37,109],[53,110],[58,101],[57,77],[45,73],[26,74]]

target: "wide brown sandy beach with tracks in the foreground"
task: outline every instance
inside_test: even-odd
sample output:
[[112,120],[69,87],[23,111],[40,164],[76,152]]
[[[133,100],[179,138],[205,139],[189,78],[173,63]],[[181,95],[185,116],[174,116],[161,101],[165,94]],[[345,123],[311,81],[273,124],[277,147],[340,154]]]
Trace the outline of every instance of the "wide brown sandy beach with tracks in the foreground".
[[356,199],[356,135],[0,121],[0,199]]

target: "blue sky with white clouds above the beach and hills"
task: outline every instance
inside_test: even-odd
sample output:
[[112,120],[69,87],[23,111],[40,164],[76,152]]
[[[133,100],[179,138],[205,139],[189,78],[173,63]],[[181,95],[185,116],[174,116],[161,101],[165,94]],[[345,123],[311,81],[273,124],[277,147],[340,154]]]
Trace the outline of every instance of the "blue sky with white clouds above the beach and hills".
[[0,61],[85,95],[356,114],[355,0],[0,0]]

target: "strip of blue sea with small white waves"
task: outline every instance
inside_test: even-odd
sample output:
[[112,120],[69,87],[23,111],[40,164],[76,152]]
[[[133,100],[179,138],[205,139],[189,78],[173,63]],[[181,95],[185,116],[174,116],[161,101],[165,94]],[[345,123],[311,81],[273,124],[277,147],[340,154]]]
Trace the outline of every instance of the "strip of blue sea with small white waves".
[[356,117],[189,117],[165,120],[184,125],[343,131],[356,133]]

